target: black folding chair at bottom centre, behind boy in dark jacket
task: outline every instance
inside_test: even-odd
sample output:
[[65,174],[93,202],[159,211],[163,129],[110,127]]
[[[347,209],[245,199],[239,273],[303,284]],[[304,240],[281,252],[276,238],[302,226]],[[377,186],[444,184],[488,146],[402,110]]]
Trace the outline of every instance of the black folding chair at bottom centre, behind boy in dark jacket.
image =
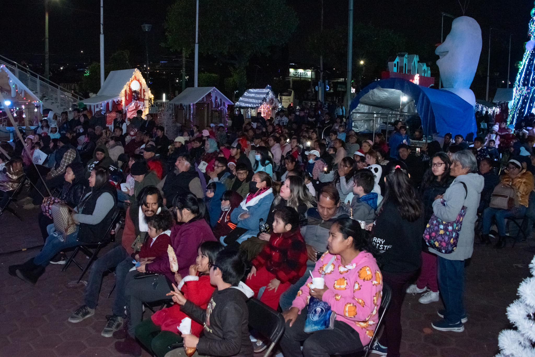
[[249,328],[271,341],[268,350],[264,353],[264,357],[268,357],[284,333],[284,317],[257,299],[247,300],[247,309],[249,310]]

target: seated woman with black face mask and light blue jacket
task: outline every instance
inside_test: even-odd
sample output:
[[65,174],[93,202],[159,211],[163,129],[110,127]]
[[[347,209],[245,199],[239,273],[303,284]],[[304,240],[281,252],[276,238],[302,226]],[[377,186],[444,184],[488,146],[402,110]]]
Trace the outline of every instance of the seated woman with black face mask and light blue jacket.
[[263,171],[253,175],[249,182],[249,194],[231,214],[231,220],[236,228],[220,241],[224,245],[238,245],[249,237],[258,234],[258,222],[268,218],[269,209],[273,202],[271,177]]

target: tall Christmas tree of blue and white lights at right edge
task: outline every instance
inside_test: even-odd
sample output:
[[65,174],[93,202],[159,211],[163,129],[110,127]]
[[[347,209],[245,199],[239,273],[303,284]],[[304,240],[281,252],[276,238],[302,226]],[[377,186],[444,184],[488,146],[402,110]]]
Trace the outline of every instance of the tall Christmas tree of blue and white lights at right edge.
[[508,125],[532,113],[535,108],[535,8],[531,10],[528,35],[530,40],[526,42],[526,51],[513,88],[513,105],[509,111]]

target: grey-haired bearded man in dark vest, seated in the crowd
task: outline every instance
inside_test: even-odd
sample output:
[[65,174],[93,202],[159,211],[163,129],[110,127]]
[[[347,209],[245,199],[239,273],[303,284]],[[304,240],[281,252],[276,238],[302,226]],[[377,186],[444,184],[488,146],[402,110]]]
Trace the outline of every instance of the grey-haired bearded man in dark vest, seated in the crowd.
[[192,192],[198,198],[204,197],[201,179],[195,170],[195,161],[189,155],[179,156],[174,164],[174,171],[170,172],[158,184],[164,192],[164,205],[170,207],[177,195]]

